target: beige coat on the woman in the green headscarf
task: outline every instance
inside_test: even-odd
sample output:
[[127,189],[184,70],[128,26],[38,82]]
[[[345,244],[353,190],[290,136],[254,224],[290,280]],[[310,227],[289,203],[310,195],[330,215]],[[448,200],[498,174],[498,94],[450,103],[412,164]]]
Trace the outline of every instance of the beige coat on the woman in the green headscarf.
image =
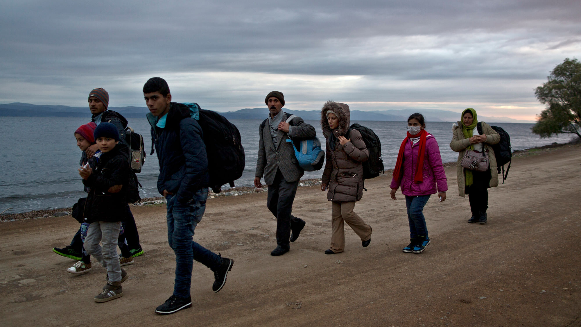
[[[470,140],[464,137],[462,133],[462,128],[460,126],[462,122],[457,122],[458,126],[452,127],[452,141],[450,142],[450,148],[453,151],[458,152],[458,161],[456,162],[456,176],[458,177],[458,195],[465,197],[464,188],[464,168],[460,165],[464,154],[466,153],[466,148],[470,146]],[[484,143],[484,151],[488,150],[488,157],[490,162],[490,179],[489,187],[498,186],[498,173],[496,170],[496,157],[494,157],[494,150],[490,144],[497,144],[500,141],[500,134],[490,127],[485,122],[482,122],[482,133],[486,134],[486,143]]]

